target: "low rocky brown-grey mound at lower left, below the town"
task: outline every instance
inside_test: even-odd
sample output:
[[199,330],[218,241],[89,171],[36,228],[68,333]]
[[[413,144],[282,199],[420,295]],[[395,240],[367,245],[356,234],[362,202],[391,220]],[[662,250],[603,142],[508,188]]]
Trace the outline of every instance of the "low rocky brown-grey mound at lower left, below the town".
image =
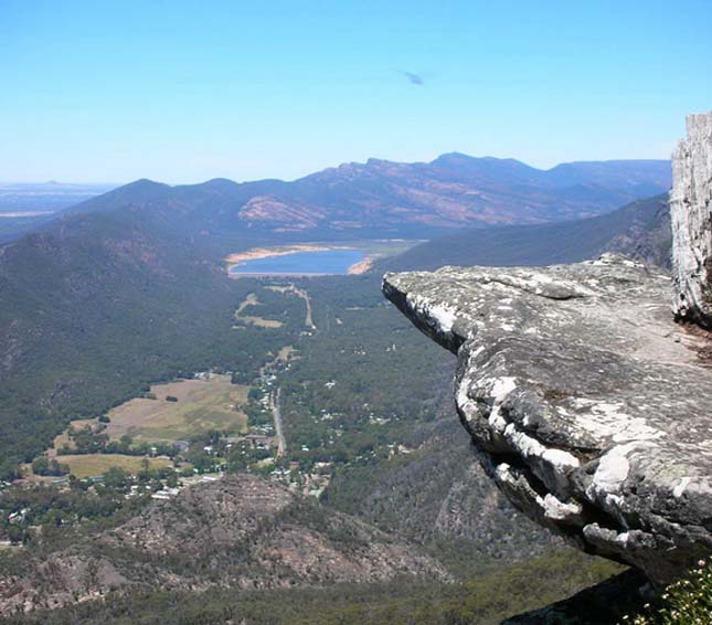
[[0,575],[0,613],[136,591],[447,580],[417,548],[248,475],[193,486],[91,540]]

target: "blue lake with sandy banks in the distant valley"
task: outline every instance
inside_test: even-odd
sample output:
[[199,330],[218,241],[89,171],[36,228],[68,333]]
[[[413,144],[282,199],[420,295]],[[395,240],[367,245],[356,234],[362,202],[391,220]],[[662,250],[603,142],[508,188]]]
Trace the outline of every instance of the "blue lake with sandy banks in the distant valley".
[[351,265],[363,261],[362,250],[319,250],[295,252],[284,256],[244,261],[231,267],[237,275],[344,275]]

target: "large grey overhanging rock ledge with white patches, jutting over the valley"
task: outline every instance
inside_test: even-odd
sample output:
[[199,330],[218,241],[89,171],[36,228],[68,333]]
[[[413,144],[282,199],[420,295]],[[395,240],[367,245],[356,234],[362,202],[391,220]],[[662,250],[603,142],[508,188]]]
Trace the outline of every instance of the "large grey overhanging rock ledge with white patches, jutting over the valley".
[[712,550],[712,370],[671,280],[619,256],[546,268],[386,274],[458,357],[456,405],[523,512],[665,584]]

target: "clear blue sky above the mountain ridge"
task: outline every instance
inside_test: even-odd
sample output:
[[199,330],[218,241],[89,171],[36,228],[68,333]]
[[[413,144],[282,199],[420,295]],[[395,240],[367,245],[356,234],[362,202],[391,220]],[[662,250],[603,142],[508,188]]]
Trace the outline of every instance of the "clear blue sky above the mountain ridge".
[[0,180],[668,158],[712,2],[0,0]]

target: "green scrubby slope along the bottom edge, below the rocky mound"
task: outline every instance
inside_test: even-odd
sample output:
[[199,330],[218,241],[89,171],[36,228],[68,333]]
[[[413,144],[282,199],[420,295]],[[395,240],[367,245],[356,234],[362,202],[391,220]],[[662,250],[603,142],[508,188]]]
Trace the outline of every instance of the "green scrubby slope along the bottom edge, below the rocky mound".
[[[336,584],[331,587],[245,591],[211,589],[202,593],[142,592],[57,611],[18,615],[18,625],[212,625],[220,622],[276,625],[333,623],[477,623],[495,625],[514,614],[543,607],[618,571],[616,564],[562,550],[530,562],[502,564],[499,570],[448,584],[398,580],[383,584]],[[608,625],[639,610],[641,580],[626,575],[614,593],[591,593],[578,610],[591,625]]]

